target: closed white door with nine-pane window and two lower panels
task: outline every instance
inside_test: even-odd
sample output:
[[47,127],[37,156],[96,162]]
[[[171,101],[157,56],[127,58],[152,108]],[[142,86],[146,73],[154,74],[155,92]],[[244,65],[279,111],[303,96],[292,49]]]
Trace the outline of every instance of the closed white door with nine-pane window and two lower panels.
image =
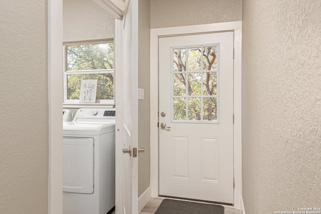
[[159,195],[233,203],[233,32],[158,47]]

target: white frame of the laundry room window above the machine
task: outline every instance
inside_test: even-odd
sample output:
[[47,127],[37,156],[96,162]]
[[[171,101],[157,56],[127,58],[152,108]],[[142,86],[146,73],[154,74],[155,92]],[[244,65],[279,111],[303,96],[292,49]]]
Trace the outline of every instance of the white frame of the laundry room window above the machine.
[[[105,106],[110,106],[110,105],[115,105],[115,67],[114,69],[99,69],[99,70],[77,70],[77,71],[67,71],[67,46],[73,46],[73,45],[96,45],[96,44],[101,44],[101,43],[114,43],[113,39],[104,39],[104,40],[90,40],[90,41],[76,41],[76,42],[64,42],[63,43],[63,107],[69,107],[69,108],[81,108],[81,107],[94,107],[94,106],[99,106],[99,107],[104,107]],[[114,48],[114,59],[115,59],[115,48]],[[68,85],[67,85],[67,76],[74,74],[108,74],[111,73],[114,76],[114,81],[113,81],[113,95],[114,99],[97,99],[96,103],[79,103],[78,100],[72,100],[72,99],[67,99],[67,90],[68,90]]]

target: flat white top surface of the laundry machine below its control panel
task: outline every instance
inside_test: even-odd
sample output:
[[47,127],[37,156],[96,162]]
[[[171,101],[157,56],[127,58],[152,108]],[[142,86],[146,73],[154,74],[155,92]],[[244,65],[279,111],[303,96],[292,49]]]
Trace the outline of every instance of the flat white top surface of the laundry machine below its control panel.
[[115,131],[114,122],[65,122],[63,124],[63,134],[101,135],[111,131]]

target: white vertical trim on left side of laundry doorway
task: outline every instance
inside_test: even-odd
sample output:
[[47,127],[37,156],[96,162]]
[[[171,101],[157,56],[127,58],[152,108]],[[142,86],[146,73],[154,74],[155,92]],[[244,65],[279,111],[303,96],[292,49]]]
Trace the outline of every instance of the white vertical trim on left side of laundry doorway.
[[48,213],[62,213],[62,0],[48,1]]

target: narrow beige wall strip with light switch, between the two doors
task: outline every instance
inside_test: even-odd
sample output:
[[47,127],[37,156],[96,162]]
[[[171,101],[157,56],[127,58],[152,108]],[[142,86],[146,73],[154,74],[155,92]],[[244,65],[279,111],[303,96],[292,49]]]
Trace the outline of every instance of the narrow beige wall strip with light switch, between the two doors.
[[138,100],[138,146],[145,152],[138,156],[138,197],[150,184],[150,0],[138,1],[138,87],[144,89],[144,99]]

